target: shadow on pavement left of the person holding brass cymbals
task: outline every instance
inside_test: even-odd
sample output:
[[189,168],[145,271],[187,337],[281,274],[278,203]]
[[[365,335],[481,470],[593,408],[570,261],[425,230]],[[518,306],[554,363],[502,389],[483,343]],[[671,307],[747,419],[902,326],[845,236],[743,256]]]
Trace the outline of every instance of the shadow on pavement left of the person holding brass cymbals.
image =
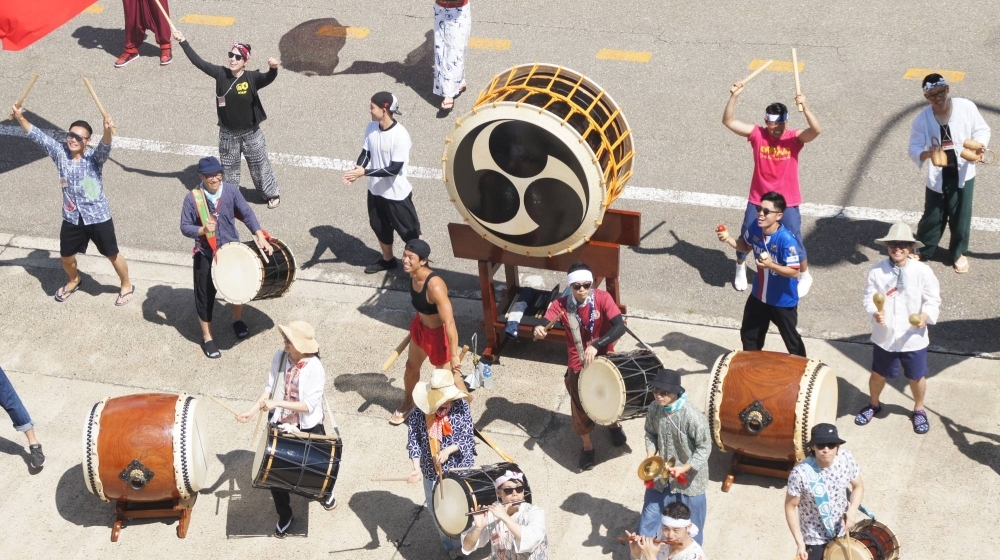
[[[637,481],[638,484],[641,481]],[[618,542],[619,536],[624,536],[625,531],[634,531],[639,525],[639,512],[631,510],[619,503],[595,498],[585,492],[571,494],[559,506],[563,511],[573,515],[590,517],[590,534],[586,540],[580,543],[587,548],[600,547],[600,554],[611,556],[612,558],[625,560],[630,557],[628,546]],[[602,535],[601,529],[607,528]],[[588,553],[584,557],[591,557]]]

